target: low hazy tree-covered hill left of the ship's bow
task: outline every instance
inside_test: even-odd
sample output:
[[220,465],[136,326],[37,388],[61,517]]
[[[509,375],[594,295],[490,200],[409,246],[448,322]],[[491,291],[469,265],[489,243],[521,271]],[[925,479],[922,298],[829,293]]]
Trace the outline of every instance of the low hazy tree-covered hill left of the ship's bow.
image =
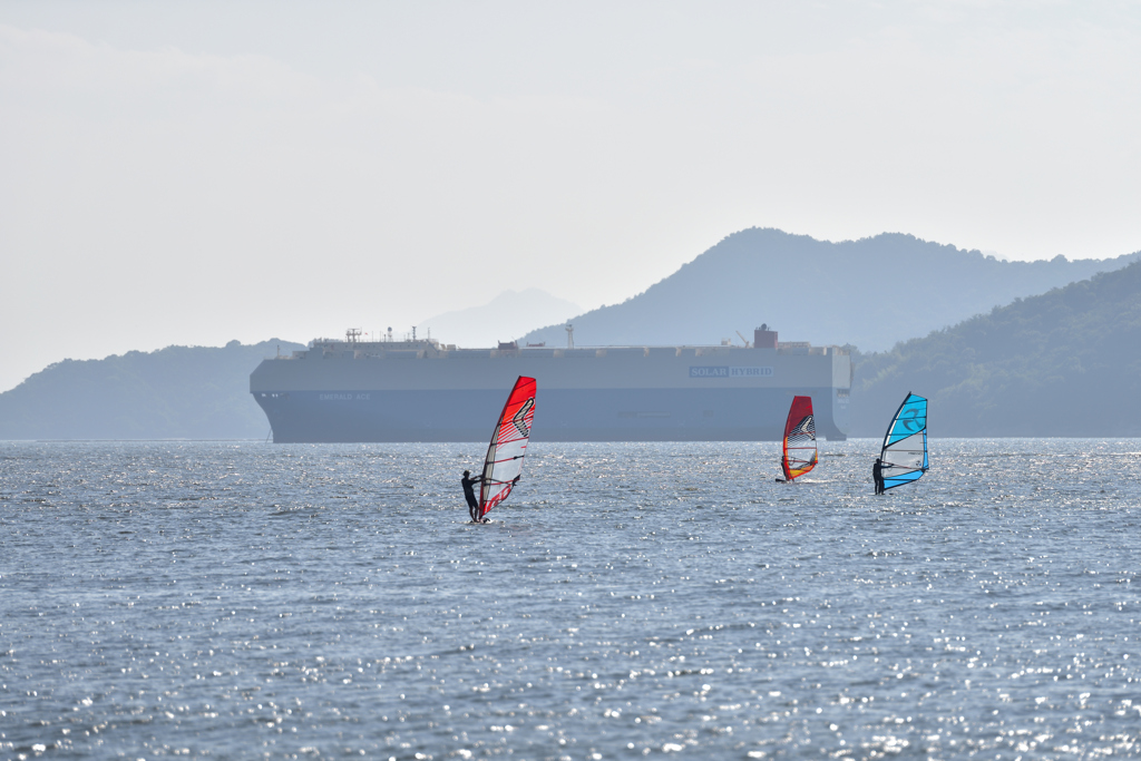
[[65,359],[0,394],[0,439],[261,438],[250,373],[276,339]]

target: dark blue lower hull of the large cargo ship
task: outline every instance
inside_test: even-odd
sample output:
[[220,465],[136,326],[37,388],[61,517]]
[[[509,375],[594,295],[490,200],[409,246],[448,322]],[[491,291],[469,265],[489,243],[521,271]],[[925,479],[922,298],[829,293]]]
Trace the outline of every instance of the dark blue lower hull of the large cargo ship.
[[[831,388],[796,392],[812,396],[819,436],[844,438],[836,422],[847,423],[847,398],[834,405]],[[784,389],[540,388],[532,439],[779,440],[792,396]],[[491,436],[505,391],[290,391],[254,398],[276,443],[482,442]]]

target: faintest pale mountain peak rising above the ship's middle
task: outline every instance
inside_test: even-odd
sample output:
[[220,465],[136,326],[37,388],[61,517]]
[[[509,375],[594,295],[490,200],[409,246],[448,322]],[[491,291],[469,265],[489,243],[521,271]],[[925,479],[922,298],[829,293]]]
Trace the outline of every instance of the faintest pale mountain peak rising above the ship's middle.
[[489,302],[470,309],[447,311],[422,321],[416,329],[421,337],[463,347],[495,346],[512,341],[540,325],[565,323],[582,313],[582,307],[532,288],[504,291]]

